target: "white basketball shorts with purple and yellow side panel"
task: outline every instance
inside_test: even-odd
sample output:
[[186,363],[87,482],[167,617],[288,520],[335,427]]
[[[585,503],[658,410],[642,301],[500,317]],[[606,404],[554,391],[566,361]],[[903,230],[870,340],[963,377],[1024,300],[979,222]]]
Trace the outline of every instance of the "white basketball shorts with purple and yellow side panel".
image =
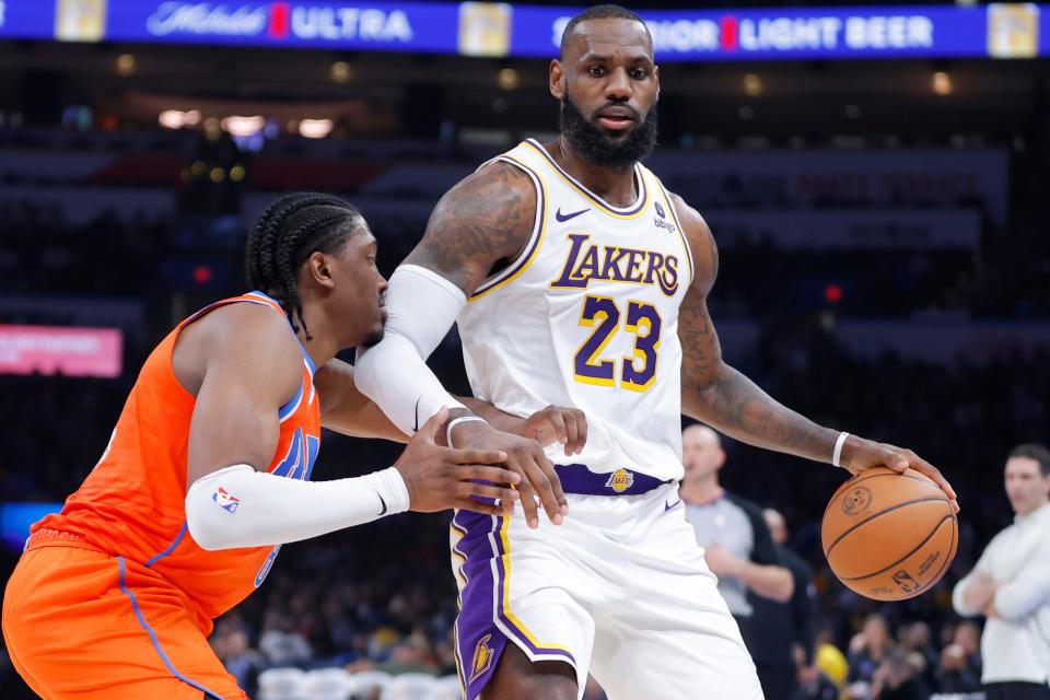
[[761,700],[736,620],[715,586],[677,485],[640,495],[570,494],[561,526],[529,529],[466,511],[452,522],[464,695],[481,696],[510,640],[563,661],[609,700]]

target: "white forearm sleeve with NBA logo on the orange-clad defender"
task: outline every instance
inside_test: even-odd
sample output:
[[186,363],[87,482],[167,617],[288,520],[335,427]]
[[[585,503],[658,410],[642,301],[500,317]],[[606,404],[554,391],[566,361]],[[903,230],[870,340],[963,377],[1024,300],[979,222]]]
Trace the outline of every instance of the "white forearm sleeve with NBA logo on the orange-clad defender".
[[408,506],[408,488],[394,467],[351,479],[301,481],[238,464],[194,481],[186,492],[186,525],[209,551],[269,547],[371,523]]

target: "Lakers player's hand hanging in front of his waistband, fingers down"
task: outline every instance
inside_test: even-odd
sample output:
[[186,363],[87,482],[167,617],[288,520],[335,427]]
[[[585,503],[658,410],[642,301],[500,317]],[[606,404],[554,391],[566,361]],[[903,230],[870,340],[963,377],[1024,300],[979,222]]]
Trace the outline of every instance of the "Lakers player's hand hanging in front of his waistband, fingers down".
[[529,527],[539,527],[537,498],[555,525],[561,525],[562,518],[569,514],[569,503],[561,490],[561,479],[535,440],[504,433],[485,421],[472,420],[453,428],[452,443],[470,450],[502,451],[506,454],[503,463],[505,468],[521,475],[516,488],[522,494],[522,508],[525,509],[525,520]]

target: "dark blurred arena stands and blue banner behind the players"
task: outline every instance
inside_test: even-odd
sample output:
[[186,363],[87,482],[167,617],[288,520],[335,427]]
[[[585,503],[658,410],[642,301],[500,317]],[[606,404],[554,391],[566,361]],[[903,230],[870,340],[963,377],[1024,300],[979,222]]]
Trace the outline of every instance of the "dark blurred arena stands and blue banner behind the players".
[[[632,5],[662,65],[648,163],[720,244],[727,359],[816,420],[937,465],[961,546],[935,590],[878,605],[821,556],[843,472],[731,442],[724,483],[786,515],[822,641],[848,653],[879,612],[936,692],[941,650],[975,638],[950,586],[1011,522],[1005,455],[1048,440],[1050,5],[751,4]],[[345,196],[389,273],[458,178],[555,132],[547,63],[573,8],[549,5],[0,2],[4,580],[28,523],[102,454],[152,346],[244,289],[245,225],[270,198]],[[467,390],[455,332],[431,365]],[[326,433],[315,478],[397,453]],[[249,691],[275,666],[454,674],[447,522],[284,547],[217,651]],[[5,656],[0,684],[32,697]]]

